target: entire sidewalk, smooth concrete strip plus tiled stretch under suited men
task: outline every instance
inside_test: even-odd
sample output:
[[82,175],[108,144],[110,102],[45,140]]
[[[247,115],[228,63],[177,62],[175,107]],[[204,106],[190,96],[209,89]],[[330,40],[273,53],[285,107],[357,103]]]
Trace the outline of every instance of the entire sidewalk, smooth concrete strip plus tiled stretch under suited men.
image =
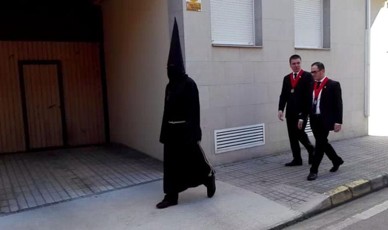
[[[207,198],[206,188],[200,186],[181,193],[179,205],[159,210],[155,204],[163,197],[162,181],[155,179],[8,212],[0,217],[0,229],[271,229],[388,184],[388,137],[364,136],[332,144],[345,164],[330,173],[331,162],[324,157],[315,181],[306,180],[306,164],[284,167],[291,159],[286,152],[217,167],[213,198]],[[302,156],[307,162],[307,153]],[[160,163],[153,164],[158,165],[152,167],[155,173]]]

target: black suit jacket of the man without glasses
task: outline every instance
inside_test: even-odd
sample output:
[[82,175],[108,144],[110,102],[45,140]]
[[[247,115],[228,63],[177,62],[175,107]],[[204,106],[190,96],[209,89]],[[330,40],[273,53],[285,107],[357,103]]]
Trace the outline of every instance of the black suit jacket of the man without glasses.
[[283,78],[283,86],[282,92],[279,97],[279,111],[284,111],[284,107],[286,107],[286,118],[294,117],[298,118],[298,115],[302,109],[303,99],[305,95],[308,94],[310,90],[310,84],[313,82],[313,78],[310,72],[304,71],[298,84],[294,89],[294,93],[291,93],[291,80],[290,73],[284,76]]

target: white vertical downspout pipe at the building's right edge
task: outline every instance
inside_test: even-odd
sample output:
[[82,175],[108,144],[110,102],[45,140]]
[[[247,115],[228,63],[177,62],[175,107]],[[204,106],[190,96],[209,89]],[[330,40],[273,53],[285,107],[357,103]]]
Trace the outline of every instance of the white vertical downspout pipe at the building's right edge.
[[370,115],[370,0],[366,0],[365,12],[365,89],[364,115]]

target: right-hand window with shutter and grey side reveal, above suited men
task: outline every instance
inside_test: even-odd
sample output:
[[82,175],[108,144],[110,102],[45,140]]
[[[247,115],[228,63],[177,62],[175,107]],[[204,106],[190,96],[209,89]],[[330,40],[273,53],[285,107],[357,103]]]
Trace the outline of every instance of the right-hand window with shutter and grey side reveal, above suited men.
[[295,47],[330,48],[330,0],[294,0]]

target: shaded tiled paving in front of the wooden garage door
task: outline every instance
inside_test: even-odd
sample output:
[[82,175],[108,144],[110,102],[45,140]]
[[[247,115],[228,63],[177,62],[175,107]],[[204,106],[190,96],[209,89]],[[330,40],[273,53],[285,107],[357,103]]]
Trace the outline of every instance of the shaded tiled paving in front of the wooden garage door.
[[162,169],[120,145],[2,155],[0,214],[161,180]]

